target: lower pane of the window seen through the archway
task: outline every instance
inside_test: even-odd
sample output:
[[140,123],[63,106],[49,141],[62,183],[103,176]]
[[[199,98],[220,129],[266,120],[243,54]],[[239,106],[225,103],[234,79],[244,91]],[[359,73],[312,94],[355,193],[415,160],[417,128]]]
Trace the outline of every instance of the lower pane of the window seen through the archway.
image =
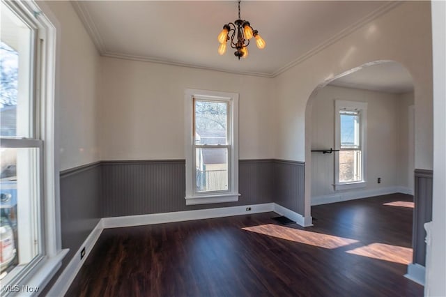
[[339,151],[339,182],[362,181],[361,151]]

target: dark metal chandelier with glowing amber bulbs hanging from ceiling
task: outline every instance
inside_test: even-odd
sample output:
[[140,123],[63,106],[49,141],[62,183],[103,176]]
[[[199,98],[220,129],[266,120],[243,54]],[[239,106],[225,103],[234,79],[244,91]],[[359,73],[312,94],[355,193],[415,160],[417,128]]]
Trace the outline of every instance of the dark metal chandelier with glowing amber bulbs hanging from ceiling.
[[[236,36],[237,35],[237,36]],[[249,39],[255,38],[256,45],[259,49],[266,46],[265,40],[260,37],[259,31],[253,30],[248,21],[242,20],[240,17],[240,0],[238,0],[238,20],[233,23],[225,24],[223,30],[218,34],[218,53],[220,55],[226,52],[226,43],[231,40],[231,47],[236,50],[234,54],[240,60],[240,57],[246,58],[248,56]]]

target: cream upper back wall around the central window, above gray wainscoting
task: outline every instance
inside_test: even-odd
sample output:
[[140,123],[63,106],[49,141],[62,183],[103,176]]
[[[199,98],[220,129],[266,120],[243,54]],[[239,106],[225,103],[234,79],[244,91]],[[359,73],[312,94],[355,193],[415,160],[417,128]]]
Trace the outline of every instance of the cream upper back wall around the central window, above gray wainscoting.
[[272,79],[102,59],[101,160],[185,158],[184,91],[239,93],[239,158],[273,158]]

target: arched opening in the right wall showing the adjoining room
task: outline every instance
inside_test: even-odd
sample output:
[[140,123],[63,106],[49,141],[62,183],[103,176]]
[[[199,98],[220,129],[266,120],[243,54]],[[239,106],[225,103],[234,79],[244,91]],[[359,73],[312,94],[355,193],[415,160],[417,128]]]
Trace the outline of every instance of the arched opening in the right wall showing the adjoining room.
[[[348,205],[345,201],[370,197],[381,197],[371,203],[379,204],[373,211],[360,208],[360,202],[355,206],[360,213],[348,210],[356,223],[371,224],[378,220],[374,215],[384,209],[412,218],[414,119],[413,79],[404,66],[394,61],[366,63],[314,89],[305,110],[305,209],[316,219],[313,224],[318,224],[318,216],[324,214],[314,212],[314,206],[317,210],[317,206],[326,204],[327,213],[329,205],[339,211]],[[339,211],[339,220],[344,215],[346,212]],[[412,224],[401,225],[407,240],[391,242],[414,249],[413,255],[406,253],[407,264],[424,265],[424,236],[417,234],[422,220],[415,214]],[[376,241],[380,241],[378,238]],[[378,246],[371,236],[367,240],[370,246]]]

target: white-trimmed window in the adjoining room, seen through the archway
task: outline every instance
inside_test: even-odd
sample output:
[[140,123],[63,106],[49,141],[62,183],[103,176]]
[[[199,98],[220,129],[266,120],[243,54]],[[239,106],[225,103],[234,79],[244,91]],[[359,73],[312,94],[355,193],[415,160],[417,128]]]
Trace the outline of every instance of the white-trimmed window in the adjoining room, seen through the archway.
[[336,100],[334,188],[344,190],[365,186],[364,143],[367,103]]

